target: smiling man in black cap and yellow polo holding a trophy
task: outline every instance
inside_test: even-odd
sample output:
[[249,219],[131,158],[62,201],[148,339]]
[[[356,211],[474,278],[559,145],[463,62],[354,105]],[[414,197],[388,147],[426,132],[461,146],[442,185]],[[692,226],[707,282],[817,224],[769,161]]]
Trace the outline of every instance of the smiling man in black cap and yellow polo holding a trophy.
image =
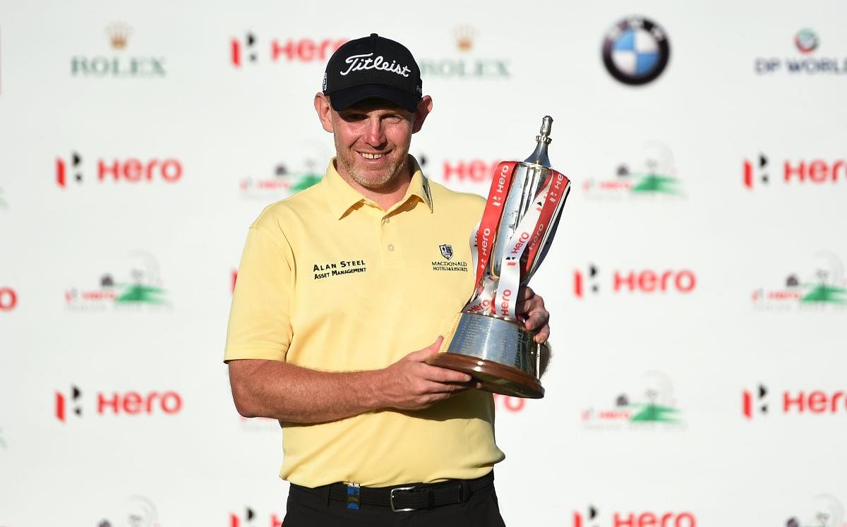
[[[492,397],[425,362],[473,291],[484,200],[408,155],[432,99],[401,44],[347,42],[314,106],[336,157],[251,226],[225,352],[239,413],[283,427],[285,526],[502,525]],[[545,341],[543,300],[518,309]]]

